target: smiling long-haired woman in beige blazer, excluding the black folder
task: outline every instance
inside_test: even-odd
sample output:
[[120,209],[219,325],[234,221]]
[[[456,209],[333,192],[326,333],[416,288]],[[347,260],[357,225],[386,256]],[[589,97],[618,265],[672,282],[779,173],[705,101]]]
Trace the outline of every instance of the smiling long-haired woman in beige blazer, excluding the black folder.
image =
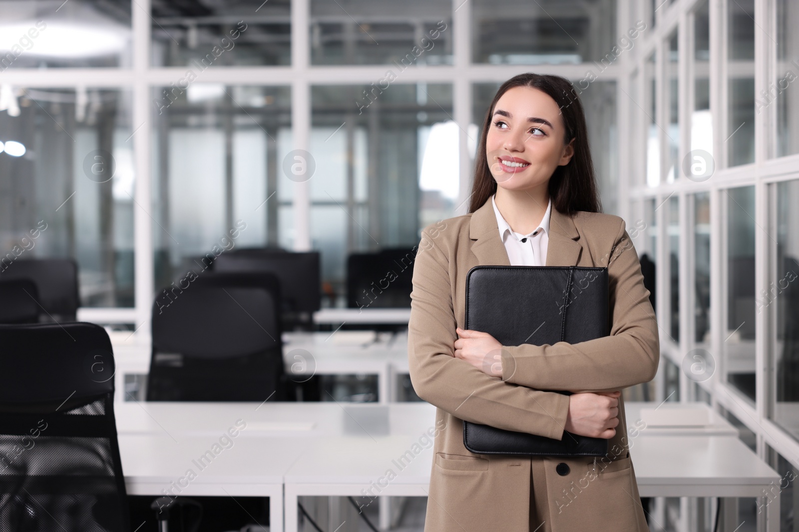
[[[497,91],[469,214],[424,228],[413,271],[408,357],[437,407],[431,532],[645,532],[622,388],[654,378],[658,326],[624,221],[600,214],[582,105],[562,77],[520,74]],[[607,266],[610,336],[503,346],[463,329],[477,265]],[[547,390],[569,390],[570,396]],[[463,422],[561,439],[608,439],[608,455],[476,455]],[[640,428],[640,427],[638,427]]]

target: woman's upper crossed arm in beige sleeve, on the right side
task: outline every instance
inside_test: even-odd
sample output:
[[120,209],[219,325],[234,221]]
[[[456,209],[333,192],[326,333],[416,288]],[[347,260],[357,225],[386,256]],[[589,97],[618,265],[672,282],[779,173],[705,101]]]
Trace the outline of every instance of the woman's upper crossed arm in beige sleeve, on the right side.
[[503,380],[542,390],[610,392],[654,378],[660,358],[658,323],[624,220],[613,249],[598,266],[605,264],[610,336],[578,344],[503,346]]

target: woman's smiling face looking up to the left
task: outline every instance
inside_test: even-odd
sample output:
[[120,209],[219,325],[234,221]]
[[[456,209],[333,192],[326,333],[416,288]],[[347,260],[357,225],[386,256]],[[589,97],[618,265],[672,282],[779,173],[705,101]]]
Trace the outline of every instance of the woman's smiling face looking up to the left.
[[531,87],[508,89],[497,101],[486,137],[486,156],[499,187],[529,190],[546,184],[555,168],[574,155],[563,143],[558,104]]

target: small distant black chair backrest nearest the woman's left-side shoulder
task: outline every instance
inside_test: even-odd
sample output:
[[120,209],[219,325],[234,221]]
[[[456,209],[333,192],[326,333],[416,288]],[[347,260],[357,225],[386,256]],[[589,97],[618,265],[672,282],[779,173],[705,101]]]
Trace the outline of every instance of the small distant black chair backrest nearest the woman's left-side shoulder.
[[410,308],[415,258],[412,248],[351,254],[347,258],[347,306]]

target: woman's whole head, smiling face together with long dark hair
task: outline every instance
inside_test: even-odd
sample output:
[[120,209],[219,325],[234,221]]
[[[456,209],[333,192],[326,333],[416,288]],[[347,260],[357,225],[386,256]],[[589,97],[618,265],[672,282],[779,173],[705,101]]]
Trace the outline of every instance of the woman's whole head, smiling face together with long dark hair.
[[[562,212],[602,210],[582,105],[570,109],[578,97],[569,81],[558,78],[562,80],[559,83],[547,78],[552,77],[539,77],[535,84],[538,88],[511,85],[500,89],[491,102],[489,109],[493,112],[485,117],[479,140],[486,149],[475,159],[470,212],[497,192],[498,207],[504,215],[501,205],[506,191],[517,198],[527,196],[535,223],[547,210],[550,196],[553,207]],[[575,139],[581,141],[575,143]],[[504,160],[519,164],[505,164]],[[497,183],[503,183],[499,190]],[[527,194],[528,188],[533,189],[534,197]],[[519,191],[524,192],[519,195]],[[509,223],[513,227],[513,220]]]

